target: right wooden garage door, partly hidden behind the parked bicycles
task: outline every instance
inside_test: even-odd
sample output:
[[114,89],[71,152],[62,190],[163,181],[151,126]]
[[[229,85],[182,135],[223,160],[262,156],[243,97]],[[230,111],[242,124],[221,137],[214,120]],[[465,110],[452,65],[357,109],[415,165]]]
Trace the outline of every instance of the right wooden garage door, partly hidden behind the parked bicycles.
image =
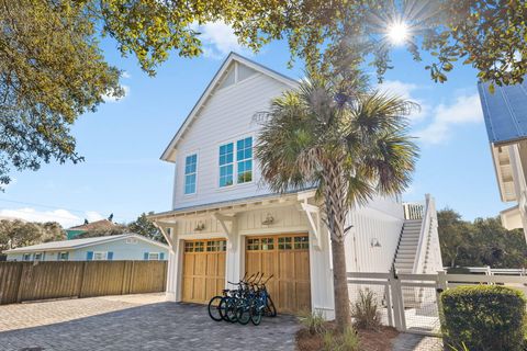
[[306,234],[246,239],[246,271],[274,274],[268,288],[279,313],[311,309],[309,248]]

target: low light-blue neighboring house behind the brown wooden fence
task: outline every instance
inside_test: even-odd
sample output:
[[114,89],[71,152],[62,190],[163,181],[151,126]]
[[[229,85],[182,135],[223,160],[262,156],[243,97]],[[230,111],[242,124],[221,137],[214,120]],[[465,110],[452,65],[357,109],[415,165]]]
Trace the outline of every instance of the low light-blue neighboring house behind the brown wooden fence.
[[8,261],[166,260],[168,246],[131,233],[44,242],[3,253]]

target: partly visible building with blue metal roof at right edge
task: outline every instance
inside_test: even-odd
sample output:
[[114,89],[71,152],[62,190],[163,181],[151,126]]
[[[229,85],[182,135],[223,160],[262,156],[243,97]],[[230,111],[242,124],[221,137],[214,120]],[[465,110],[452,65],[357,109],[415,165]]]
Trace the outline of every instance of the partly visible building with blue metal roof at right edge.
[[495,87],[479,83],[497,185],[503,202],[514,203],[501,212],[507,229],[524,228],[527,240],[527,81]]

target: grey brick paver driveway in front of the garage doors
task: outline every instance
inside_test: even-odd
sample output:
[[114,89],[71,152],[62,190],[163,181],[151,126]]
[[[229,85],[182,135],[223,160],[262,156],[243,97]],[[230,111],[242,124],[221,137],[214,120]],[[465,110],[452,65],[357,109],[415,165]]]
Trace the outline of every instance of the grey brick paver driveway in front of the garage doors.
[[0,350],[294,350],[295,318],[213,321],[206,307],[159,295],[0,306]]

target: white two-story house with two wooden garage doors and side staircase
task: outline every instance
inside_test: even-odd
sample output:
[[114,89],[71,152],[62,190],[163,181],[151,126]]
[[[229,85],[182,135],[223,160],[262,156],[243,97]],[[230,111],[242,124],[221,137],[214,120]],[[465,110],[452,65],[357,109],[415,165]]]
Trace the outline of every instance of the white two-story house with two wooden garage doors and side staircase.
[[[334,314],[328,234],[314,191],[276,194],[260,182],[253,147],[259,112],[298,81],[231,54],[164,151],[175,163],[172,210],[152,215],[170,246],[167,299],[208,303],[246,272],[273,274],[280,312]],[[405,219],[406,218],[406,219]],[[352,211],[349,271],[442,268],[434,200],[377,197]]]

